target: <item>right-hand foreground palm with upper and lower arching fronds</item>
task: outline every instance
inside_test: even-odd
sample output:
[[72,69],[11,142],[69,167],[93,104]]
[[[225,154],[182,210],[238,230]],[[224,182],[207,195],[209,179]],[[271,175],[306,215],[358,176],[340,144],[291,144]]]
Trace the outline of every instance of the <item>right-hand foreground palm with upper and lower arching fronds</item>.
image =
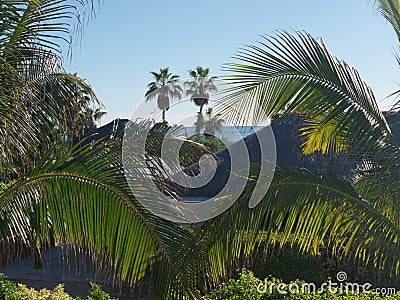
[[[400,2],[376,2],[400,37]],[[202,229],[203,238],[209,239],[211,273],[226,275],[227,266],[260,243],[268,247],[291,239],[301,251],[316,253],[319,245],[328,244],[338,257],[372,262],[399,274],[400,148],[372,90],[322,40],[307,33],[263,37],[236,58],[238,63],[226,67],[233,73],[226,79],[235,88],[221,105],[224,115],[263,120],[301,114],[306,118],[301,129],[304,154],[341,153],[358,168],[353,176],[341,178],[330,171],[315,174],[278,166],[257,207],[247,207],[248,189],[232,209]],[[249,113],[243,117],[237,111]],[[264,181],[260,174],[253,188],[262,188]]]

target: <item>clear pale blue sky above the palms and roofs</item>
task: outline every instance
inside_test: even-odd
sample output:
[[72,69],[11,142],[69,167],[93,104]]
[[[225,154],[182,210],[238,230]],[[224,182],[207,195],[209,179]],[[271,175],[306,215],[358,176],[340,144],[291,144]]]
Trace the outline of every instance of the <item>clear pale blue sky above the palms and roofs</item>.
[[105,124],[131,116],[150,71],[168,66],[185,79],[201,65],[221,76],[240,47],[278,29],[322,37],[334,56],[360,72],[381,108],[390,105],[383,98],[400,82],[398,42],[367,0],[104,0],[66,68],[92,85],[108,111]]

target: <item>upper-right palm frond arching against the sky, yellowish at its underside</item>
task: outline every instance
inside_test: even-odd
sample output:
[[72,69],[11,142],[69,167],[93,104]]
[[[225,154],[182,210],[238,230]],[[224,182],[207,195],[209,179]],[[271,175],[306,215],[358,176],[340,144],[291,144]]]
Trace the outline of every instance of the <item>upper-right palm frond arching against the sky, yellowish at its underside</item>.
[[[225,67],[233,73],[226,77],[233,87],[220,107],[224,117],[258,124],[277,114],[304,114],[310,122],[304,136],[323,152],[346,148],[324,138],[327,124],[333,135],[340,136],[336,142],[346,141],[350,148],[369,152],[393,142],[371,89],[323,42],[306,33],[287,32],[263,39],[240,51],[235,57],[238,63]],[[346,130],[353,126],[359,130],[357,139]],[[365,131],[372,134],[360,134]]]

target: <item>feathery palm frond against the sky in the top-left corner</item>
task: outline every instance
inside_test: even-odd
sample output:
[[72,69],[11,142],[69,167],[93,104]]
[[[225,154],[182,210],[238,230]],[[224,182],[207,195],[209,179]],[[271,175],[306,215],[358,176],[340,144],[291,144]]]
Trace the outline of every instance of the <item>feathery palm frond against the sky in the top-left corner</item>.
[[0,55],[10,58],[33,48],[60,52],[96,11],[97,0],[1,1]]

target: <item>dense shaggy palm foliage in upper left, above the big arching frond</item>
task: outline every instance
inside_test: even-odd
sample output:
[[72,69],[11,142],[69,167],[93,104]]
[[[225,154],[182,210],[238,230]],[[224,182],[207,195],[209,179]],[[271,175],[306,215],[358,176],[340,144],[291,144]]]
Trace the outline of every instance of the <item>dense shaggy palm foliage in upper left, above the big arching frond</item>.
[[0,181],[25,176],[55,141],[83,130],[74,121],[85,107],[101,106],[61,57],[95,7],[90,0],[0,1]]

